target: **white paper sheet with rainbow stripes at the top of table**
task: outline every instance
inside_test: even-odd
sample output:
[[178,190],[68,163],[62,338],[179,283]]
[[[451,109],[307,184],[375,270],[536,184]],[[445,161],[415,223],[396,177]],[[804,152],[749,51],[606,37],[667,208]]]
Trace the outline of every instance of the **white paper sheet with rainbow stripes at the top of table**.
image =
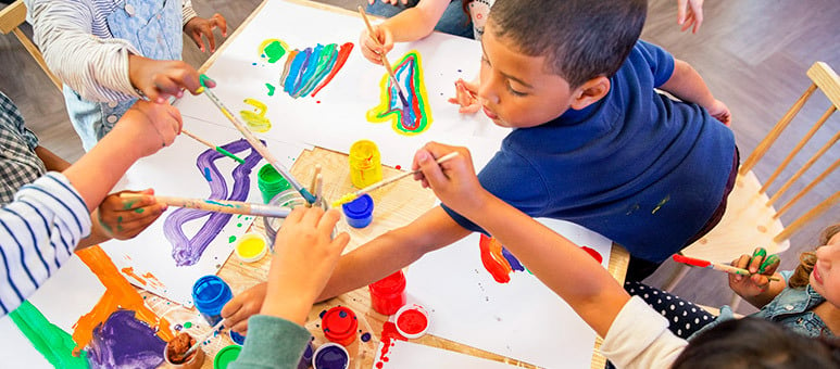
[[[377,143],[384,164],[408,167],[414,152],[428,141],[474,148],[487,145],[493,149],[507,129],[500,128],[482,113],[460,114],[457,106],[447,102],[454,96],[453,82],[457,78],[471,80],[477,76],[480,46],[472,39],[434,34],[421,41],[399,43],[389,53],[397,65],[402,55],[416,50],[418,67],[425,85],[424,104],[430,109],[431,124],[428,129],[413,136],[399,133],[390,122],[371,123],[368,110],[381,103],[385,69],[368,62],[358,44],[350,52],[344,65],[338,69],[315,97],[310,94],[292,98],[283,91],[280,76],[291,50],[305,50],[318,43],[342,46],[356,43],[364,23],[359,16],[326,12],[286,1],[269,1],[247,25],[239,36],[224,49],[206,72],[216,82],[215,94],[238,115],[240,111],[260,113],[246,103],[253,99],[265,104],[264,117],[272,128],[258,136],[284,141],[300,140],[310,144],[347,153],[360,139]],[[271,62],[261,46],[276,39],[288,46],[283,58]],[[411,71],[405,71],[405,73]],[[403,69],[398,71],[402,78]],[[406,74],[408,75],[408,74]],[[274,88],[268,96],[271,85]],[[177,103],[181,114],[213,124],[227,125],[227,120],[203,96],[188,96]],[[477,155],[491,154],[480,151]],[[477,157],[486,162],[489,157]]]

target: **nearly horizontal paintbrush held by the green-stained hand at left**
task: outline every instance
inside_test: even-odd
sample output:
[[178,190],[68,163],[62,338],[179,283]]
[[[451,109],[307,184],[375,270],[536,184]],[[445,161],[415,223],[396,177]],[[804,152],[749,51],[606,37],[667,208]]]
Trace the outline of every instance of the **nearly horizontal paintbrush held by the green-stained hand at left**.
[[120,198],[123,199],[137,199],[142,196],[152,196],[154,198],[154,201],[164,203],[167,206],[197,208],[215,213],[254,215],[272,218],[285,218],[291,213],[291,207],[246,203],[241,201],[171,198],[140,193],[120,194]]

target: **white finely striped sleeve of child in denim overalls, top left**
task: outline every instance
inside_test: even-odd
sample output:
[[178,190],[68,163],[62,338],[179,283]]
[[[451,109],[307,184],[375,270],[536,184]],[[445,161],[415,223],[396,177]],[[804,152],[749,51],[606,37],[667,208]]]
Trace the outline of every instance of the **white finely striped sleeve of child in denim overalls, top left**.
[[123,101],[139,97],[128,78],[128,53],[140,55],[128,41],[97,37],[89,1],[27,0],[35,42],[47,65],[64,85],[90,101]]

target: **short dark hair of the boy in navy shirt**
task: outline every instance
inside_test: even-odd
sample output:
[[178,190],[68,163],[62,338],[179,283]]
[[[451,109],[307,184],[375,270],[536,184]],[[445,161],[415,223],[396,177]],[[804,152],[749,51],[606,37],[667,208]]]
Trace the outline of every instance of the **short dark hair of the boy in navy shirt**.
[[549,72],[571,88],[612,77],[639,39],[645,0],[497,0],[493,36],[528,56],[546,56]]

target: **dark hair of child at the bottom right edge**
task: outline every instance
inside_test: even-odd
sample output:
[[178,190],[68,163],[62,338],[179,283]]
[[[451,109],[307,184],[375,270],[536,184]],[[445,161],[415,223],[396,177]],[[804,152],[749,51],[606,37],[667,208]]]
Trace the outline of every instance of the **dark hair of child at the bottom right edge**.
[[758,318],[734,319],[691,340],[673,369],[838,368],[837,339],[812,339]]

